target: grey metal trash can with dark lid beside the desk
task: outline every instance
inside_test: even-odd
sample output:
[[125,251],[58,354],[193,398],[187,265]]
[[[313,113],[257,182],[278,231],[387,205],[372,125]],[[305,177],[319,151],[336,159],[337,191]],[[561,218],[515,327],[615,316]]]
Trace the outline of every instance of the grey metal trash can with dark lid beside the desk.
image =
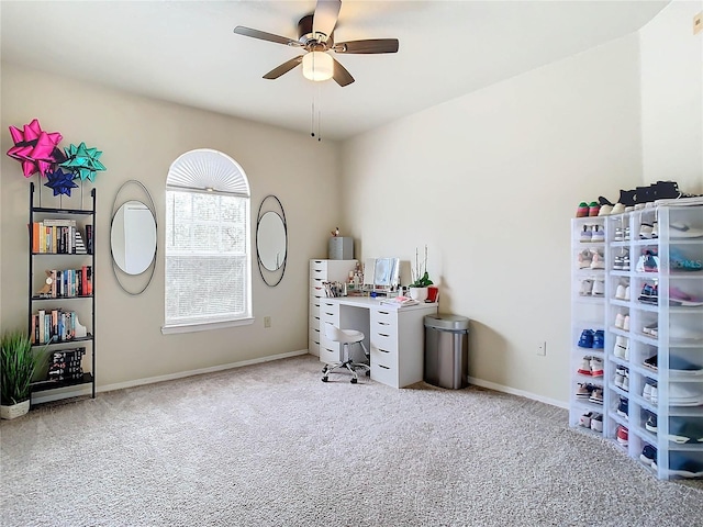
[[468,382],[469,319],[466,316],[425,316],[425,382],[457,390]]

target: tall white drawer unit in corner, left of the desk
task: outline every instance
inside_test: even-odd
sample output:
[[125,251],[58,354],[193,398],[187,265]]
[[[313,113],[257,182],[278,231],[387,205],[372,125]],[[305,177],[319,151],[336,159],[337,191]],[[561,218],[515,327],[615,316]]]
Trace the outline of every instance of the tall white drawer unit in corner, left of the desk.
[[[320,325],[320,306],[325,299],[323,282],[345,281],[349,271],[354,270],[356,260],[310,260],[310,316],[308,329],[308,351],[320,356],[320,360],[328,361],[332,351],[322,357],[322,332]],[[337,360],[336,358],[333,360]]]

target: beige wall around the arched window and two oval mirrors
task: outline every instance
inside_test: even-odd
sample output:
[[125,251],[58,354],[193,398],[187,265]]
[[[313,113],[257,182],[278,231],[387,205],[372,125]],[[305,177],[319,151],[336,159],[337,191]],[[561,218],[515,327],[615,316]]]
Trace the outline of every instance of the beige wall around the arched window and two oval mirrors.
[[[308,348],[309,259],[326,256],[330,229],[344,228],[336,212],[336,143],[2,64],[3,153],[11,146],[8,126],[22,126],[34,117],[44,130],[64,135],[62,146],[86,142],[102,150],[101,161],[108,168],[97,175],[94,184],[99,385]],[[164,336],[165,181],[170,164],[199,147],[220,149],[242,165],[253,191],[254,226],[265,195],[274,193],[281,200],[290,235],[288,267],[281,284],[268,288],[253,261],[255,324]],[[312,166],[315,170],[310,170]],[[1,168],[2,326],[26,327],[29,181],[20,164],[8,156],[2,156]],[[159,218],[154,282],[140,296],[119,289],[110,261],[113,200],[130,179],[142,181],[150,191]],[[32,180],[36,183],[36,176]],[[46,200],[51,191],[42,188]],[[327,206],[320,206],[323,203]],[[37,270],[43,272],[41,267]],[[269,329],[263,324],[267,315],[272,321]]]

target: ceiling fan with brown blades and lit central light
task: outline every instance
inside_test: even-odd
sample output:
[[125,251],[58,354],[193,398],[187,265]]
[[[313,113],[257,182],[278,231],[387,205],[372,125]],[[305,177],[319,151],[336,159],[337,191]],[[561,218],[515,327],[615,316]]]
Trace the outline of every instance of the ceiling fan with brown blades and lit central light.
[[311,80],[327,80],[334,78],[337,85],[344,87],[354,82],[354,77],[332,55],[326,52],[352,54],[397,53],[398,38],[367,38],[364,41],[334,42],[334,26],[339,16],[342,0],[317,0],[315,11],[300,19],[298,22],[298,40],[266,33],[237,25],[234,32],[238,35],[250,36],[261,41],[300,47],[304,54],[291,58],[271,69],[265,79],[278,79],[299,64],[303,65],[303,75]]

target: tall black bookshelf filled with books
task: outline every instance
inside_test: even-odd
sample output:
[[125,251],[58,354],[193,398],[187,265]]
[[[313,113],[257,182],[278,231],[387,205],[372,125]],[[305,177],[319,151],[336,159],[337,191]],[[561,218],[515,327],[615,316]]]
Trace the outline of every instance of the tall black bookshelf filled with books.
[[96,190],[87,209],[36,206],[37,198],[32,182],[29,334],[33,346],[48,354],[44,371],[32,383],[32,404],[94,397]]

